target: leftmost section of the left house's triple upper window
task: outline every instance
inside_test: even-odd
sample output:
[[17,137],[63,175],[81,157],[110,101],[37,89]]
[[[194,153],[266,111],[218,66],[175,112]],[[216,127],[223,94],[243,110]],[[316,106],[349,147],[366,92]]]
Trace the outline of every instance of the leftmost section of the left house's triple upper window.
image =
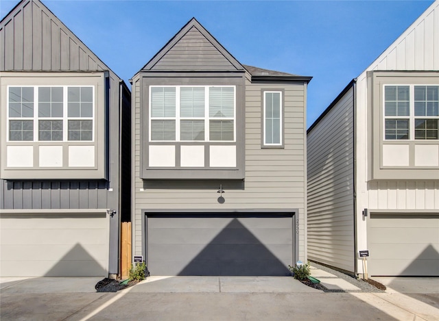
[[9,87],[9,140],[34,140],[34,88]]

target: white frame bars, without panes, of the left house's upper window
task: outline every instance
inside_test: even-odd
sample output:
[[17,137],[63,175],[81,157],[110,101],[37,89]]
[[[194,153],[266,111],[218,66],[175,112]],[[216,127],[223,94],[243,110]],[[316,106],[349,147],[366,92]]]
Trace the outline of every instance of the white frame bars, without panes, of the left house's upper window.
[[[33,117],[10,117],[9,116],[9,88],[10,87],[20,87],[20,88],[34,88],[34,116]],[[38,88],[49,88],[49,87],[62,87],[62,117],[38,117]],[[92,117],[68,117],[68,88],[73,87],[89,87],[92,88]],[[61,143],[61,142],[95,142],[95,125],[96,125],[96,103],[95,103],[95,86],[91,85],[43,85],[43,86],[22,86],[22,85],[8,85],[6,86],[6,142],[12,143],[31,143],[31,142],[41,142],[41,143]],[[10,120],[32,120],[34,122],[34,140],[10,140],[9,124]],[[38,122],[39,120],[62,120],[62,140],[38,140]],[[92,139],[91,140],[68,140],[69,138],[69,120],[92,120]]]

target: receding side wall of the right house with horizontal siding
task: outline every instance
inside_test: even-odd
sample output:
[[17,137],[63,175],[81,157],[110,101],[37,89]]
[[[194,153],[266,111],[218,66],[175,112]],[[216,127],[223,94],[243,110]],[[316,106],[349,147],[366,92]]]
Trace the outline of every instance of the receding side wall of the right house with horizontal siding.
[[308,257],[355,272],[353,86],[307,135]]

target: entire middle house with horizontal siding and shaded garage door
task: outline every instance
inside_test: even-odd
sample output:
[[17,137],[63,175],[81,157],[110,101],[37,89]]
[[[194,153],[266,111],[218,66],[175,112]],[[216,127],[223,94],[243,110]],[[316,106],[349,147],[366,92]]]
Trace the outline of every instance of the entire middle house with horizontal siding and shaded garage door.
[[151,274],[307,259],[310,80],[244,66],[195,18],[132,77],[132,244]]

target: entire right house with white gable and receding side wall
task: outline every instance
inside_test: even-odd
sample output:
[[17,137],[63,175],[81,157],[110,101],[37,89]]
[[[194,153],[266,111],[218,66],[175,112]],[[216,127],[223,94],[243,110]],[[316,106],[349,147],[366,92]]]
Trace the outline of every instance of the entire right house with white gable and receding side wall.
[[439,1],[307,131],[308,257],[439,275]]

